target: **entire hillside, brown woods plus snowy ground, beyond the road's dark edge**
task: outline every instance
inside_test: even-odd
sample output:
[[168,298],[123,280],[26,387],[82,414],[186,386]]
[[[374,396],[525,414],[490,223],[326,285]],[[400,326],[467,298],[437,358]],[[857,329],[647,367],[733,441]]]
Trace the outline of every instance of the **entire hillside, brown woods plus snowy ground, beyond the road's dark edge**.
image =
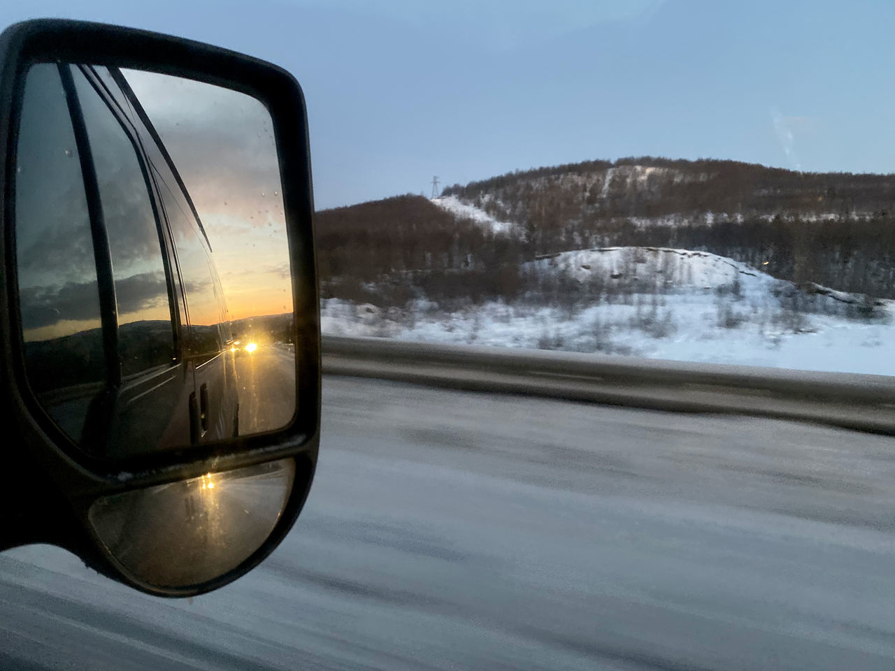
[[884,335],[893,213],[892,175],[652,157],[516,172],[318,213],[324,325],[843,369],[806,344]]

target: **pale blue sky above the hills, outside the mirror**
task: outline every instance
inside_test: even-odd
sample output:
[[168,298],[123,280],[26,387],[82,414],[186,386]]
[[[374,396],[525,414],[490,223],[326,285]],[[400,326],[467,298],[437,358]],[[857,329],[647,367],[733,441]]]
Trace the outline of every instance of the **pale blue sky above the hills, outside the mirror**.
[[319,208],[630,155],[895,172],[895,3],[30,0],[302,83]]

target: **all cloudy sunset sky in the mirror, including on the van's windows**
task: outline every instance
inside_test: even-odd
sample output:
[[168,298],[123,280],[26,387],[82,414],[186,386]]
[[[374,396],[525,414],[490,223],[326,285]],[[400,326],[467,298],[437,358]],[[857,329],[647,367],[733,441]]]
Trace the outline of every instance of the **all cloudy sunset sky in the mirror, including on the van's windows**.
[[[167,319],[158,234],[136,157],[78,68],[71,72],[98,170],[119,321]],[[249,96],[196,81],[135,71],[125,76],[199,212],[230,319],[292,310],[279,166],[267,109]],[[16,166],[16,253],[24,336],[32,341],[98,327],[98,290],[78,152],[61,82],[50,64],[36,66],[29,81]],[[106,83],[115,88],[112,81]],[[189,265],[189,245],[177,242],[181,263]],[[197,285],[200,276],[184,276],[184,288],[195,296],[212,291],[209,283]],[[213,307],[216,301],[195,301],[194,323],[219,319],[201,313],[205,303]]]

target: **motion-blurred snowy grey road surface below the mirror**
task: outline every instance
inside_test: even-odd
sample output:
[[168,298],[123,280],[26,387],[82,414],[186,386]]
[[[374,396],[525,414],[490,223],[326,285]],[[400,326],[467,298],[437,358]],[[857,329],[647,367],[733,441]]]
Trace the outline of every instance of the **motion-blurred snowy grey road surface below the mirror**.
[[144,597],[0,556],[0,668],[895,667],[891,438],[327,378],[258,570]]

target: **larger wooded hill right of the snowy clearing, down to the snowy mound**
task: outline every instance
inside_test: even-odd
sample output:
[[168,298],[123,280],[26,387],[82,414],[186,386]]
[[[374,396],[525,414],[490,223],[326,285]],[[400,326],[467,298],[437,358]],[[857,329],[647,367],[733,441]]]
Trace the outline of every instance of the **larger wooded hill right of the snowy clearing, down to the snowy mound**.
[[533,254],[675,246],[895,297],[892,175],[639,157],[506,174],[443,196],[512,223]]

